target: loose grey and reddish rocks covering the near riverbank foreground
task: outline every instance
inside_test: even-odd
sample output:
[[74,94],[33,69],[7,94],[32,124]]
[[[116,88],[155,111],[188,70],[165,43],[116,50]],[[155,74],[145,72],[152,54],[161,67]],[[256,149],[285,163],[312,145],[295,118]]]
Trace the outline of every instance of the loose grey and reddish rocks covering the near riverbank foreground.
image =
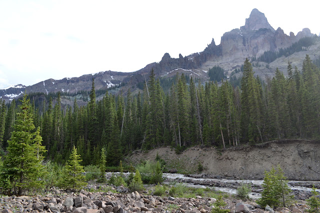
[[[101,191],[92,192],[97,189]],[[109,191],[106,191],[107,189]],[[106,187],[105,185],[88,185],[85,190],[82,189],[80,192],[60,191],[52,188],[43,195],[2,196],[0,197],[0,209],[2,209],[2,213],[206,213],[211,211],[216,201],[215,198],[204,196],[179,198],[146,194],[147,192],[128,192],[127,188],[123,186]],[[224,198],[224,201],[227,203],[224,208],[230,209],[232,213],[304,212],[308,208],[303,201],[297,202],[288,208],[282,207],[276,209],[268,206],[262,209],[252,200],[243,201],[230,196]]]

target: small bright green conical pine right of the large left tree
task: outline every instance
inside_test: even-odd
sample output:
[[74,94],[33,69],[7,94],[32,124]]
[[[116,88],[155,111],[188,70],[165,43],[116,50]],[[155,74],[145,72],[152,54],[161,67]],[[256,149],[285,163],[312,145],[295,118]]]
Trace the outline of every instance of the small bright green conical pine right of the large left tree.
[[66,189],[80,189],[86,185],[83,166],[80,165],[82,161],[79,154],[77,154],[75,146],[73,146],[69,160],[66,162],[63,169],[63,177],[59,181],[59,186]]

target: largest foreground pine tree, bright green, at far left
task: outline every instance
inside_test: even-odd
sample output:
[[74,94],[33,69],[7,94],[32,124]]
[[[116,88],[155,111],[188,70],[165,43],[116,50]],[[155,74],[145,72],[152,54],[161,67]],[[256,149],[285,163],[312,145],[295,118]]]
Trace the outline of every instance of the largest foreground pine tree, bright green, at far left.
[[[8,153],[1,167],[1,185],[8,193],[21,195],[26,190],[43,186],[39,178],[43,175],[42,153],[39,128],[34,132],[29,100],[23,95],[21,112],[17,113],[14,131],[8,140]],[[12,191],[13,190],[13,191]]]

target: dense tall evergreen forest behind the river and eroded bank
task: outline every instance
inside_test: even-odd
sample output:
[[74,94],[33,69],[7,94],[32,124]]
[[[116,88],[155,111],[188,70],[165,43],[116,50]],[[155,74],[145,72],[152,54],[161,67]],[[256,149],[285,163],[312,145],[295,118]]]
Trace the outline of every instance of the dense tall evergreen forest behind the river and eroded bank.
[[[97,163],[102,147],[108,165],[116,165],[123,154],[139,148],[170,145],[179,151],[198,144],[224,148],[280,138],[318,138],[320,71],[308,55],[301,71],[290,63],[287,71],[284,77],[277,69],[272,79],[262,82],[246,59],[241,89],[229,81],[202,85],[192,77],[188,84],[181,74],[163,92],[151,70],[143,92],[106,93],[97,102],[92,79],[86,106],[78,107],[74,99],[73,107],[62,110],[57,94],[55,104],[50,99],[41,110],[31,103],[33,123],[40,126],[46,158],[63,162],[75,145],[83,165]],[[13,101],[8,108],[1,104],[4,149],[18,110]]]

